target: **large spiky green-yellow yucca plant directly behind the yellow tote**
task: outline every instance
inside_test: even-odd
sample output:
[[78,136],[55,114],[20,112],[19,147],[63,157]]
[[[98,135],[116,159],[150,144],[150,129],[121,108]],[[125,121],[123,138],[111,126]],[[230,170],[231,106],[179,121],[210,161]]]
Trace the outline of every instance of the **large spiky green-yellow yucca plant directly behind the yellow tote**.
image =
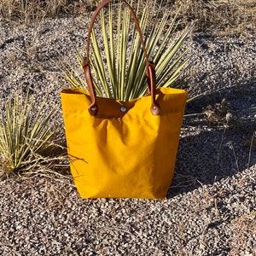
[[[141,12],[140,6],[138,1],[137,15]],[[117,22],[113,24],[116,9]],[[156,67],[157,86],[174,86],[180,71],[188,61],[188,58],[185,58],[187,49],[182,49],[182,46],[191,32],[191,27],[180,32],[177,38],[173,38],[176,17],[170,22],[168,11],[164,14],[159,11],[152,15],[152,9],[160,9],[157,1],[148,1],[147,8],[143,9],[140,18],[146,49],[149,59],[154,61]],[[110,3],[107,12],[101,12],[100,26],[91,34],[92,47],[89,56],[97,95],[123,101],[146,95],[148,91],[145,57],[130,10],[123,9],[122,4],[118,4],[116,8],[115,3]],[[96,30],[100,31],[98,36]],[[77,59],[79,64],[84,59],[80,51],[77,51]],[[73,88],[86,89],[80,71],[68,66],[65,76]]]

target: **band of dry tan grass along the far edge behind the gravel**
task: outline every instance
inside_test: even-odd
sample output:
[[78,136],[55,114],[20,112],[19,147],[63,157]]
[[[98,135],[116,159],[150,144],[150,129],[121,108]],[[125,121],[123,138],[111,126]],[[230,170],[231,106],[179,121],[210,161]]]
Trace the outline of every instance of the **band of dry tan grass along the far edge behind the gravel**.
[[[146,0],[143,0],[147,2]],[[0,16],[5,20],[31,21],[60,15],[85,15],[101,0],[2,0]],[[128,1],[129,2],[129,1]],[[137,1],[133,1],[136,3]],[[255,34],[256,2],[254,0],[154,0],[170,10],[171,19],[179,10],[183,28],[195,21],[195,31],[208,36],[248,38]]]

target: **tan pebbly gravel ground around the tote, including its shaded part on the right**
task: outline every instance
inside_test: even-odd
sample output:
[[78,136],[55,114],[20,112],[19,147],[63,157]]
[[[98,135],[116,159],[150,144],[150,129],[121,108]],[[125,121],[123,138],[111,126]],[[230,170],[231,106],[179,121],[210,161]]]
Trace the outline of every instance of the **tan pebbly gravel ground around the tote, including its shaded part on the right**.
[[[86,19],[0,24],[1,104],[18,89],[49,94],[64,137],[58,66],[73,63]],[[190,95],[205,96],[188,104],[166,200],[81,200],[69,175],[11,177],[0,182],[1,255],[256,255],[255,38],[188,44]]]

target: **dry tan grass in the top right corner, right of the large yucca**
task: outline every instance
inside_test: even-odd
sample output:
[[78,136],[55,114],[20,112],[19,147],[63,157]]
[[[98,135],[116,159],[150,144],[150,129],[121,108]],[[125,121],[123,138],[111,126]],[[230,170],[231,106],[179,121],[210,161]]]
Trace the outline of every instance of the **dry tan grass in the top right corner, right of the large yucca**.
[[251,37],[255,33],[254,0],[177,0],[183,22],[195,20],[199,32],[209,36]]

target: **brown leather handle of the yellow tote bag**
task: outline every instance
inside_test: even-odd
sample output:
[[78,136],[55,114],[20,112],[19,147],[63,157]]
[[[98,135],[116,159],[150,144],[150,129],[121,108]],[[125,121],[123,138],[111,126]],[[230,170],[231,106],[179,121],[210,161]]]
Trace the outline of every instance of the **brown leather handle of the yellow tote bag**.
[[[148,81],[148,90],[151,93],[151,99],[152,99],[152,104],[151,104],[151,112],[154,115],[158,115],[160,113],[160,106],[155,102],[155,71],[154,71],[154,64],[151,64],[148,60],[148,54],[147,50],[144,44],[143,40],[143,32],[140,28],[139,21],[137,20],[137,16],[134,12],[134,10],[131,8],[131,5],[127,3],[125,0],[121,0],[124,2],[128,8],[131,10],[131,15],[133,16],[135,25],[137,27],[137,32],[139,34],[140,41],[143,45],[143,52],[146,58],[146,76],[147,76],[147,81]],[[103,0],[102,3],[97,7],[95,13],[92,15],[92,18],[90,20],[90,26],[89,26],[89,31],[88,31],[88,36],[87,36],[87,46],[86,46],[86,54],[87,58],[83,61],[83,68],[84,68],[84,76],[85,80],[90,92],[90,99],[91,99],[91,104],[88,108],[88,111],[90,112],[91,115],[96,115],[98,111],[97,103],[96,103],[96,91],[95,87],[92,81],[91,73],[90,73],[90,62],[89,62],[89,54],[90,54],[90,33],[92,32],[92,28],[94,25],[94,22],[96,20],[96,16],[99,14],[100,10],[106,6],[108,3],[113,2],[113,0]]]

